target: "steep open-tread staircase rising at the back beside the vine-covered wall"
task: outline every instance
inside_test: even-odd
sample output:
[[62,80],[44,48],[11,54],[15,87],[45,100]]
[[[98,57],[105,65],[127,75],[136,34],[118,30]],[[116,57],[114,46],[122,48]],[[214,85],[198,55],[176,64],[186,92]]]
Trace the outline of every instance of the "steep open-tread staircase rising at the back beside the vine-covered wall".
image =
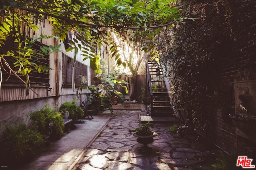
[[152,62],[146,63],[146,66],[151,117],[174,117],[161,66]]

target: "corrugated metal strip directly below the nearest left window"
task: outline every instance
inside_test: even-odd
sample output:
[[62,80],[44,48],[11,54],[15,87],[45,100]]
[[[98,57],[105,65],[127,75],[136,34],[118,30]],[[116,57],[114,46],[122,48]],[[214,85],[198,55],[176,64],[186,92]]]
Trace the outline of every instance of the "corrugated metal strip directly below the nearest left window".
[[30,89],[29,95],[26,96],[25,87],[2,87],[0,90],[0,102],[45,98],[50,94],[47,87],[32,87],[32,90]]

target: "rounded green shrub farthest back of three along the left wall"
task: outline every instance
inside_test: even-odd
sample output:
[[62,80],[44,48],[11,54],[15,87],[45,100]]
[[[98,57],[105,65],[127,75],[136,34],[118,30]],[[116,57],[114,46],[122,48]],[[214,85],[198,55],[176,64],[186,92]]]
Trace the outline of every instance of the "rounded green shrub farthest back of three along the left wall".
[[64,114],[68,111],[68,119],[73,119],[76,121],[77,119],[82,119],[84,117],[84,111],[80,106],[77,106],[75,101],[72,102],[64,102],[60,105],[59,111]]

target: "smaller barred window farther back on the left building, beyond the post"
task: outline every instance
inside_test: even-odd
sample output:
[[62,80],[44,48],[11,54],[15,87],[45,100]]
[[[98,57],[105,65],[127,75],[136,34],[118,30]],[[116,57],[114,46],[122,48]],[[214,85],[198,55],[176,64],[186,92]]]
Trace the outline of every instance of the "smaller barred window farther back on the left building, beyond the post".
[[[72,68],[73,68],[73,59],[68,55],[62,54],[63,56],[63,84],[64,85],[72,85]],[[80,75],[88,76],[87,75],[87,65],[76,61],[75,63],[75,85],[80,86]],[[85,85],[87,85],[86,83]]]

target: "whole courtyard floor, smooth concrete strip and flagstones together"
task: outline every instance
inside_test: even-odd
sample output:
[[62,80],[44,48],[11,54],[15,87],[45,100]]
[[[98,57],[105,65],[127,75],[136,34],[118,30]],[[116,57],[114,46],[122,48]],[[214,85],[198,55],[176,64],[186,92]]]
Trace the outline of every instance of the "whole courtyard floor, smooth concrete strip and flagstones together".
[[[122,107],[122,106],[116,106]],[[132,107],[138,108],[138,105]],[[150,154],[142,154],[142,144],[129,129],[138,127],[141,110],[114,110],[94,115],[92,120],[76,123],[78,127],[62,139],[51,142],[37,158],[20,170],[205,170],[216,158],[216,149],[197,134],[184,137],[168,133],[171,122],[158,122],[152,130],[158,135]]]

